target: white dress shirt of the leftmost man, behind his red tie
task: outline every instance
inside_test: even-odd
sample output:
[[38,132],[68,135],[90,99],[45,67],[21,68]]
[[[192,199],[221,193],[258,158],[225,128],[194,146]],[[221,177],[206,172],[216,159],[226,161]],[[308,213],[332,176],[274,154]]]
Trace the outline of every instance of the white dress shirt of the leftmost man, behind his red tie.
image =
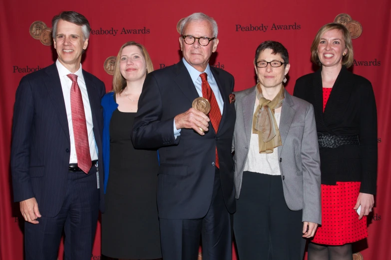
[[85,114],[85,122],[87,124],[87,134],[88,134],[88,143],[89,143],[89,152],[91,155],[91,161],[98,159],[98,154],[96,152],[96,144],[93,132],[93,124],[92,124],[92,113],[91,107],[89,105],[87,88],[85,86],[85,81],[83,77],[83,72],[81,70],[81,64],[78,71],[75,73],[71,73],[67,68],[62,65],[58,59],[55,62],[57,66],[58,75],[60,76],[62,94],[64,96],[65,102],[65,110],[66,110],[66,118],[68,120],[68,128],[69,128],[69,139],[70,139],[70,158],[69,163],[77,163],[76,149],[75,149],[75,139],[73,136],[73,125],[72,125],[72,111],[70,109],[70,88],[72,86],[72,80],[68,78],[68,74],[77,75],[77,84],[79,85],[81,91],[81,97],[83,99],[84,106],[84,114]]

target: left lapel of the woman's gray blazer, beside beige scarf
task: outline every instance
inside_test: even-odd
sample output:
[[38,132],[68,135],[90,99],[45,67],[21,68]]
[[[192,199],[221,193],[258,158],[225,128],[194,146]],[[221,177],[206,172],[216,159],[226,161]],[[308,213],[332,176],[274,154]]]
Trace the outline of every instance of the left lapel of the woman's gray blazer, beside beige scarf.
[[247,138],[247,147],[250,147],[250,138],[253,128],[254,105],[256,99],[255,87],[246,91],[246,95],[242,97],[241,105],[243,112],[244,131]]

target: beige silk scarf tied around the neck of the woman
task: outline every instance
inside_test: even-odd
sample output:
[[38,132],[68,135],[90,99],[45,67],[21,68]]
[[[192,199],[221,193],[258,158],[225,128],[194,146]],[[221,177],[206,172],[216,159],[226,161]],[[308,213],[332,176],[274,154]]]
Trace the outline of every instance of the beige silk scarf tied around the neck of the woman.
[[259,153],[272,153],[274,148],[282,145],[274,110],[282,106],[285,88],[282,86],[272,101],[263,97],[261,84],[257,84],[256,91],[259,105],[254,113],[253,133],[258,134]]

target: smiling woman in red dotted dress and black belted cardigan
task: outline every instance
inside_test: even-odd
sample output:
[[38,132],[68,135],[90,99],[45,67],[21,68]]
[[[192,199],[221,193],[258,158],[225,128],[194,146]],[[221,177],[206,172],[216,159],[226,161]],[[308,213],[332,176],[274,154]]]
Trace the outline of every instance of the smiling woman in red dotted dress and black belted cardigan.
[[321,68],[299,78],[294,90],[314,106],[321,157],[322,226],[308,259],[352,260],[352,243],[368,237],[366,216],[376,193],[375,96],[371,82],[347,70],[354,59],[344,25],[320,28],[311,52]]

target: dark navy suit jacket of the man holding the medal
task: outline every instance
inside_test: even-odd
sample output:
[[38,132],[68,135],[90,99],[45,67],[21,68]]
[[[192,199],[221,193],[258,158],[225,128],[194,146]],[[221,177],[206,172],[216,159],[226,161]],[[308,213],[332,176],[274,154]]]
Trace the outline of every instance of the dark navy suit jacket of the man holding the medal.
[[182,129],[174,137],[174,117],[191,108],[197,90],[183,61],[149,73],[145,79],[134,120],[132,141],[135,148],[159,148],[160,167],[157,203],[159,217],[197,219],[208,212],[215,173],[217,146],[225,204],[235,212],[234,169],[231,154],[235,107],[229,103],[234,78],[211,67],[224,101],[217,134],[213,127],[201,136]]

